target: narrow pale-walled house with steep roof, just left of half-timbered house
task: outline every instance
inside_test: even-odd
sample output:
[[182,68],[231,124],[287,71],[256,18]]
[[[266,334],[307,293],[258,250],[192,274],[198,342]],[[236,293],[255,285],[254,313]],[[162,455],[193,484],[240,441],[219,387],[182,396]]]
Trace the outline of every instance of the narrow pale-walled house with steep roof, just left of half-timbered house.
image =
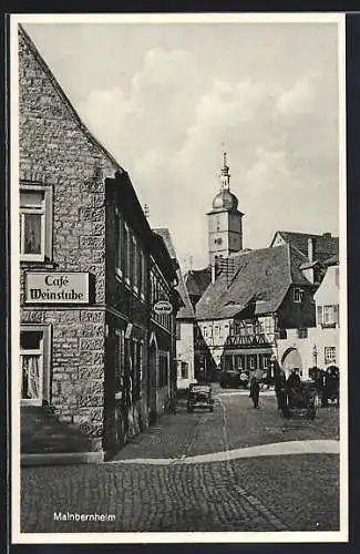
[[[167,228],[155,228],[154,232],[163,237],[167,250],[176,260],[176,253]],[[177,389],[186,389],[195,380],[194,373],[194,322],[195,312],[192,306],[183,274],[177,266],[177,286],[179,309],[176,314],[176,368]]]

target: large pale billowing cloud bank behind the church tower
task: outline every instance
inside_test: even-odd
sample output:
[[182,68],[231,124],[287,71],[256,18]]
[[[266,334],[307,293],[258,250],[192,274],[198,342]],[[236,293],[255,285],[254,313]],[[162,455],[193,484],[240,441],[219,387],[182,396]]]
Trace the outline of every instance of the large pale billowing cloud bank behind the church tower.
[[[321,222],[337,222],[330,83],[316,73],[287,86],[269,78],[209,78],[191,52],[155,48],[128,90],[92,91],[80,113],[128,171],[151,224],[168,226],[178,257],[194,255],[199,267],[207,264],[206,213],[218,192],[223,148],[246,213],[245,246],[267,246],[278,226],[321,232]],[[321,222],[320,198],[327,209]]]

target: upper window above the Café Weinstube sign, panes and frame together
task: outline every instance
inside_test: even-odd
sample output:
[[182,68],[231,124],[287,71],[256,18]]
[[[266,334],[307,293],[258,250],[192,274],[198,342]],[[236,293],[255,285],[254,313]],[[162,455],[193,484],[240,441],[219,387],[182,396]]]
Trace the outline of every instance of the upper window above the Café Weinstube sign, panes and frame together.
[[52,188],[20,185],[20,259],[51,260]]

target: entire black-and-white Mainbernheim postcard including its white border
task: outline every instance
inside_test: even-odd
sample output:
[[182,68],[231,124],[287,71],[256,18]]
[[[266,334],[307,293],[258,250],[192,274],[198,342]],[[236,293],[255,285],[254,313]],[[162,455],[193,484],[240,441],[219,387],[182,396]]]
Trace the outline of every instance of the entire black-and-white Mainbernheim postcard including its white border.
[[344,14],[12,14],[12,541],[348,541]]

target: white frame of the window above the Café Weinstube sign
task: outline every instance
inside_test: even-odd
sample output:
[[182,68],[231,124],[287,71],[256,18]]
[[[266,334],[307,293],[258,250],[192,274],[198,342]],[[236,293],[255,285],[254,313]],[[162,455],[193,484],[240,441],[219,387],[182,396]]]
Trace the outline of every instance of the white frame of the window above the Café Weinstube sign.
[[[21,206],[21,193],[43,194],[42,207]],[[20,261],[51,261],[52,259],[52,186],[51,185],[32,185],[20,183],[19,188],[19,212],[20,212]],[[41,215],[41,252],[40,254],[24,254],[24,214]]]

